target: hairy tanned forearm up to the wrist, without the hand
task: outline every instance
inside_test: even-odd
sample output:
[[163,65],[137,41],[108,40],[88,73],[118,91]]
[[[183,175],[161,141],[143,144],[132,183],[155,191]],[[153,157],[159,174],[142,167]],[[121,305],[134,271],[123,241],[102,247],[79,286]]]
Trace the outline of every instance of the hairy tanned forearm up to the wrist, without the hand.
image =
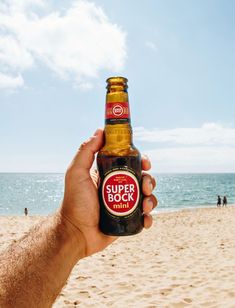
[[83,257],[79,231],[50,216],[0,255],[0,307],[50,307]]

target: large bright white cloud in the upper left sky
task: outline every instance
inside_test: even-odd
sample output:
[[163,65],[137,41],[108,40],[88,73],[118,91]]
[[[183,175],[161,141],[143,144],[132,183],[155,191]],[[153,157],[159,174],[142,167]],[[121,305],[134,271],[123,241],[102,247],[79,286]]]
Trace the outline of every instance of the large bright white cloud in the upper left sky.
[[100,7],[76,0],[53,11],[46,3],[7,0],[0,5],[2,72],[19,74],[42,62],[61,78],[90,84],[101,70],[122,70],[125,33]]

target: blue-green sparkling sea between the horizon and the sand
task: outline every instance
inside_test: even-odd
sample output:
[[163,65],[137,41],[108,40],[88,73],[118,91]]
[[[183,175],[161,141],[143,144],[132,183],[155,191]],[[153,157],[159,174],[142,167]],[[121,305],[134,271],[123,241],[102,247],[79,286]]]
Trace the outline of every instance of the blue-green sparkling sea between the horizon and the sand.
[[[154,174],[158,212],[214,207],[217,196],[235,204],[235,173]],[[0,215],[47,215],[59,206],[64,192],[61,173],[0,173]]]

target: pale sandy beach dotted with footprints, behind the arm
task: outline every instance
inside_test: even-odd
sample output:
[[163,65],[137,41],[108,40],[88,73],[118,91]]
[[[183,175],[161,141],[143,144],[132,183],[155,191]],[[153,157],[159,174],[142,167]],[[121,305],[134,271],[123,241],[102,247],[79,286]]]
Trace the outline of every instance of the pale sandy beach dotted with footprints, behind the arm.
[[[0,250],[40,217],[0,217]],[[155,216],[77,264],[53,307],[235,307],[235,207]]]

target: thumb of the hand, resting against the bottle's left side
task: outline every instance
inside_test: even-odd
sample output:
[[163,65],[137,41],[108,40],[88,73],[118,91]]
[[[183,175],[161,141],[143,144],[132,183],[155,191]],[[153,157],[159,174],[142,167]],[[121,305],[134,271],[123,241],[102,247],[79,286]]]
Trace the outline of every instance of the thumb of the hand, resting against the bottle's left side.
[[90,170],[95,153],[99,151],[104,142],[104,131],[98,128],[94,135],[83,142],[74,157],[71,167],[76,169]]

